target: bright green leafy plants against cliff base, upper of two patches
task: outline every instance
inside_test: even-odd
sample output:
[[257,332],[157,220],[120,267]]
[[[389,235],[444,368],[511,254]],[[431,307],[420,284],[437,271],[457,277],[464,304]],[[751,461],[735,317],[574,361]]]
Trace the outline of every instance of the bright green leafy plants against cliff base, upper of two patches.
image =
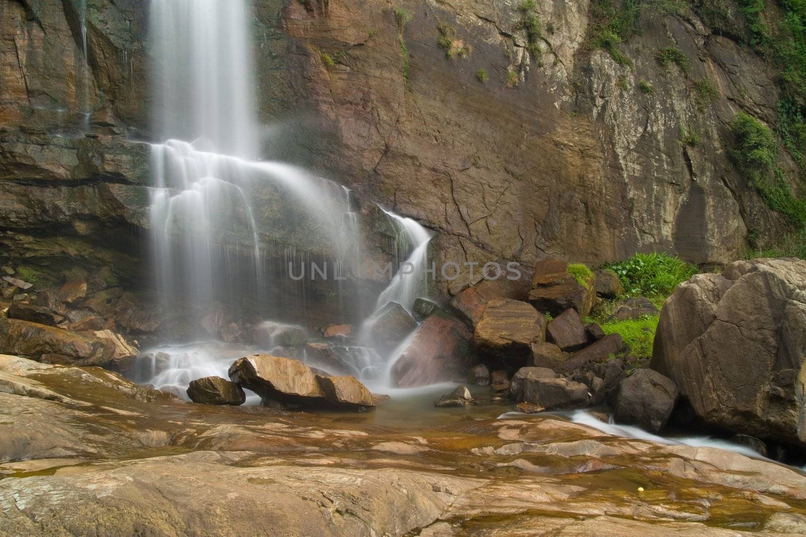
[[697,273],[697,267],[667,254],[635,254],[625,261],[605,265],[618,275],[628,295],[667,297],[681,282]]

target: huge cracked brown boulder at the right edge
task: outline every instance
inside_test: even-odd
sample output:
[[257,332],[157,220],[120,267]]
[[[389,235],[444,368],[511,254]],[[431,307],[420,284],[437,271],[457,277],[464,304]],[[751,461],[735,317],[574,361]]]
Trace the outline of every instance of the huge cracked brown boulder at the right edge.
[[806,261],[733,262],[667,299],[652,369],[714,426],[806,445]]

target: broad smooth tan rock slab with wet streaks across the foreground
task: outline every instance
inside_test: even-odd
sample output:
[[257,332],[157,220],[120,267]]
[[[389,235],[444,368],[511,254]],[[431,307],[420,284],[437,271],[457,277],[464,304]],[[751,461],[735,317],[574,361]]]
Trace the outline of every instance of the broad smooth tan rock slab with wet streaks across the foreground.
[[796,469],[560,419],[292,419],[0,356],[0,535],[802,535],[804,500]]

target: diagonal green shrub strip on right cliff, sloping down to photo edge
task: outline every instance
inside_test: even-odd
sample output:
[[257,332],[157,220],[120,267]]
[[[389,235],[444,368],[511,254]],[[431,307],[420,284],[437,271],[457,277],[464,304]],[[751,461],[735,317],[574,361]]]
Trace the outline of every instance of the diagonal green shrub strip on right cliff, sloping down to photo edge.
[[753,185],[770,209],[782,213],[797,229],[806,227],[806,200],[798,199],[775,165],[778,143],[770,128],[746,112],[730,123],[736,146],[729,151],[739,171]]

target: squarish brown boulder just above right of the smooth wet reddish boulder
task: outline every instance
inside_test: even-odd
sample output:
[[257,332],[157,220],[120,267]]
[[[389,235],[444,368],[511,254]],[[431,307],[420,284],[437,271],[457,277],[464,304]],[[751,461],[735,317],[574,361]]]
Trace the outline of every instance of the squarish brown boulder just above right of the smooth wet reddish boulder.
[[532,344],[546,339],[546,316],[526,302],[492,299],[476,324],[475,337],[481,353],[526,363]]

